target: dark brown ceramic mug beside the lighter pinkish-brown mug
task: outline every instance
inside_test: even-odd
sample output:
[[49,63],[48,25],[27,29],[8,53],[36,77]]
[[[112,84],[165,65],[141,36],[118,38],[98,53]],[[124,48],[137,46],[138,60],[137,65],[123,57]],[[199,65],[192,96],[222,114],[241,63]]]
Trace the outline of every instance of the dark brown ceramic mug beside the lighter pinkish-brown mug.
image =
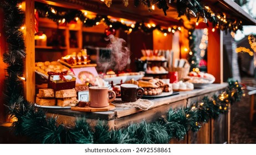
[[[139,95],[140,93],[140,95]],[[124,102],[135,102],[144,94],[144,89],[134,84],[121,85],[121,99]]]

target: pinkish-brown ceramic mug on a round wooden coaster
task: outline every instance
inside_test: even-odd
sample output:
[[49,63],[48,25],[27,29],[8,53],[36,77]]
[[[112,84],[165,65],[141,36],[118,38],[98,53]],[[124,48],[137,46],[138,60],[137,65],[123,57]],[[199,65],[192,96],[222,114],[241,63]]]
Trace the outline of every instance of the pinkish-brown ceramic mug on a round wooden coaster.
[[[111,95],[110,95],[111,94]],[[112,96],[109,99],[109,96]],[[106,107],[109,102],[116,99],[114,91],[109,90],[107,87],[91,86],[89,87],[89,106],[90,107]]]

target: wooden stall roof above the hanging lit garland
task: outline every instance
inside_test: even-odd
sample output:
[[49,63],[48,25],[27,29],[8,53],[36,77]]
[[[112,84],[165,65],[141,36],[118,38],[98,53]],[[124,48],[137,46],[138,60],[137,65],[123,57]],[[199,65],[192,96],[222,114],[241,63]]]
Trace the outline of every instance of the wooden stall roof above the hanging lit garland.
[[[179,24],[180,19],[178,17],[176,3],[168,3],[169,9],[167,10],[167,16],[163,14],[161,9],[155,9],[152,12],[149,12],[148,9],[140,5],[138,7],[134,7],[134,0],[129,0],[129,5],[127,7],[124,6],[122,0],[112,0],[112,4],[110,8],[107,8],[104,2],[100,0],[35,0],[37,2],[45,2],[48,3],[50,1],[57,2],[54,3],[57,5],[59,3],[60,6],[66,6],[70,8],[77,9],[86,9],[88,11],[97,12],[98,14],[104,14],[109,16],[115,16],[120,18],[127,18],[131,20],[144,20],[144,22],[148,22],[149,20],[156,20],[158,23],[162,24]],[[166,0],[169,1],[169,0]],[[242,20],[242,25],[256,25],[256,20],[252,18],[248,13],[246,13],[238,4],[231,0],[204,0],[202,1],[207,6],[211,7],[216,12],[224,12],[227,17],[237,18]],[[72,5],[70,5],[72,3]],[[186,20],[186,18],[182,18]],[[195,21],[196,19],[194,19]]]

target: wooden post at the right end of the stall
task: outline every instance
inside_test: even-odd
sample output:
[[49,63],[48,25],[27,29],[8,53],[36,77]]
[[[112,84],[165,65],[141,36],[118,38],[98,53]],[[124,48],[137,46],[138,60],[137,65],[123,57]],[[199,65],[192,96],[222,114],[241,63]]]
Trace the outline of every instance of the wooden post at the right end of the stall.
[[223,82],[223,32],[212,27],[208,28],[207,72],[216,80],[214,83]]

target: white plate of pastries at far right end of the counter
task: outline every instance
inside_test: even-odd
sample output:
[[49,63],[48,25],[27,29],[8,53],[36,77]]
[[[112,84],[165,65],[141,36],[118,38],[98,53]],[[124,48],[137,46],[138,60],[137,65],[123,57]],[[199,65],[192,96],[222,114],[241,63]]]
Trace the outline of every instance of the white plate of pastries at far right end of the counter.
[[191,82],[194,87],[202,88],[212,84],[215,81],[215,77],[212,74],[191,71],[185,80]]

